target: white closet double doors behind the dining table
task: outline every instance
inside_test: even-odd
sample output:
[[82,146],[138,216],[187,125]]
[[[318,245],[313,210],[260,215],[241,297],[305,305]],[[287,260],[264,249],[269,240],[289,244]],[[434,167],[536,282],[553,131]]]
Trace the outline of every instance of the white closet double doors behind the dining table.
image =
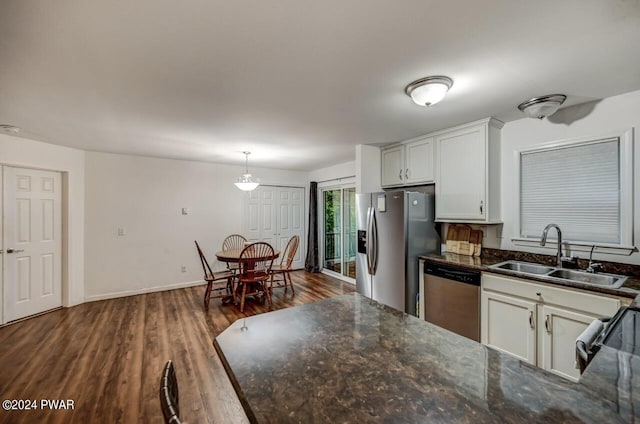
[[301,187],[259,186],[245,201],[243,233],[250,241],[265,241],[284,251],[297,235],[300,245],[293,267],[304,267],[304,189]]

